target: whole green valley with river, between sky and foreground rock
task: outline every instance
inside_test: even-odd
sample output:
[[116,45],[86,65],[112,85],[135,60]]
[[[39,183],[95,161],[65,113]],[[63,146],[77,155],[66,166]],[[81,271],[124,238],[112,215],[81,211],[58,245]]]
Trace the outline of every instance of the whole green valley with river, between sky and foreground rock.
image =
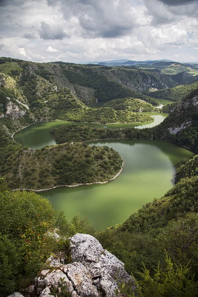
[[198,77],[172,66],[0,58],[0,248],[3,281],[16,279],[6,292],[24,292],[52,252],[68,264],[76,233],[133,274],[146,265],[154,276],[158,262],[165,271],[167,255],[178,267],[191,260],[195,288]]

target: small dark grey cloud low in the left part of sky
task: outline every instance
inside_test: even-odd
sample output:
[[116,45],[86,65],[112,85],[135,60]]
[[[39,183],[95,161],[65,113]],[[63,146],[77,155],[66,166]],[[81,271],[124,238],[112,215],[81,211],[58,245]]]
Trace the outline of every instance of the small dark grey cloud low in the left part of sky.
[[40,38],[42,39],[59,39],[70,37],[67,35],[62,28],[49,26],[46,22],[41,22]]

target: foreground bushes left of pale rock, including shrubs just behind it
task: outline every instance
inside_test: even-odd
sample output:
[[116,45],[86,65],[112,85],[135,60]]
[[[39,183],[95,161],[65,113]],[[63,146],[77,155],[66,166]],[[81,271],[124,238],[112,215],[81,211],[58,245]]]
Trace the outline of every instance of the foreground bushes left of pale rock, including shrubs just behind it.
[[65,237],[77,232],[94,234],[86,219],[68,223],[48,199],[34,192],[10,191],[0,179],[0,296],[22,291],[51,255],[62,251],[68,259],[68,241],[56,241],[54,229]]

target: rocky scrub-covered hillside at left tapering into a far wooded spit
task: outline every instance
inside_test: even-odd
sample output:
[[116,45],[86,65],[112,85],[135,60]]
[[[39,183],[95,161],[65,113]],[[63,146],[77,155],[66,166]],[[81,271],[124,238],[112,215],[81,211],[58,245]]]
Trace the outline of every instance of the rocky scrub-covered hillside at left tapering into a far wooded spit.
[[[32,123],[33,119],[97,123],[131,123],[152,120],[148,115],[135,114],[129,110],[116,111],[109,107],[99,109],[87,107],[82,101],[74,97],[69,89],[62,88],[60,91],[56,91],[48,81],[36,74],[27,72],[26,68],[20,76],[20,87],[16,88],[16,81],[9,76],[1,74],[0,77],[4,82],[0,88],[1,112],[7,116],[7,106],[11,102],[12,114],[16,113],[18,108],[17,118],[26,117],[28,124]],[[10,81],[12,85],[10,85]],[[10,99],[7,99],[8,97]],[[26,103],[25,106],[20,102]],[[14,115],[14,117],[16,116]],[[2,121],[5,119],[3,118]],[[25,126],[25,122],[23,126]]]

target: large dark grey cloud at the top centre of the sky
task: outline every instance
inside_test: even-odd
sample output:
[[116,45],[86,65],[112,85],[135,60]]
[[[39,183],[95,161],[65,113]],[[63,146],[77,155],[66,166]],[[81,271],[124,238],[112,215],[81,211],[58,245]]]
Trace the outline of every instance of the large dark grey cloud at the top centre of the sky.
[[65,20],[78,18],[86,38],[125,36],[135,27],[136,16],[128,0],[60,0],[58,3]]

